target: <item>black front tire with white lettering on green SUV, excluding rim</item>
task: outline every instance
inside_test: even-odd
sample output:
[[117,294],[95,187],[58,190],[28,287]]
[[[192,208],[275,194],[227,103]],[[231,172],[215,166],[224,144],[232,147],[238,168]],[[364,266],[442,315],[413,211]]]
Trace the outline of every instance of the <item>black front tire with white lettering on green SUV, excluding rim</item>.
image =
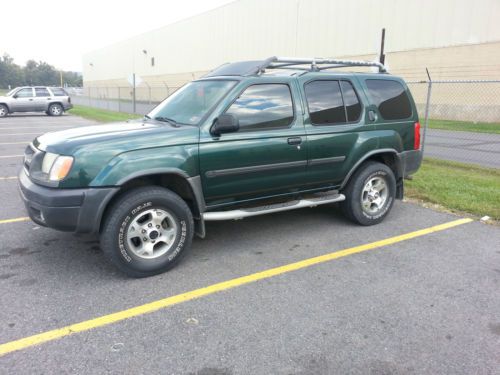
[[[144,259],[129,246],[128,230],[141,213],[154,209],[168,212],[177,225],[177,231],[165,254]],[[138,278],[174,267],[191,247],[193,233],[193,215],[186,202],[168,189],[147,186],[130,190],[114,202],[104,219],[100,242],[103,253],[118,269]]]

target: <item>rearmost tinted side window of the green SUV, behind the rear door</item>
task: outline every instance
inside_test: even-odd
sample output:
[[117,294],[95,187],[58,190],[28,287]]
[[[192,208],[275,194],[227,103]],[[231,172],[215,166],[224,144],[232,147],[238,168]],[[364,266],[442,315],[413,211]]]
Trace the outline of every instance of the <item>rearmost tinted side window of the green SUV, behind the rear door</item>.
[[411,116],[411,105],[403,85],[397,81],[368,79],[366,87],[373,104],[386,120],[401,120]]

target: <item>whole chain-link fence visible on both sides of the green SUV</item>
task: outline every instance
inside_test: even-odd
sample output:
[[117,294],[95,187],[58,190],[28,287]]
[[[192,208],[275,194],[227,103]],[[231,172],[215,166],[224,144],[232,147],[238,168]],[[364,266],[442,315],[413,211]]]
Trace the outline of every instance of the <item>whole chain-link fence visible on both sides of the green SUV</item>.
[[[427,157],[500,169],[500,80],[407,83],[424,128]],[[145,114],[178,88],[163,82],[143,83],[135,90],[135,105],[131,87],[68,91],[75,104]]]

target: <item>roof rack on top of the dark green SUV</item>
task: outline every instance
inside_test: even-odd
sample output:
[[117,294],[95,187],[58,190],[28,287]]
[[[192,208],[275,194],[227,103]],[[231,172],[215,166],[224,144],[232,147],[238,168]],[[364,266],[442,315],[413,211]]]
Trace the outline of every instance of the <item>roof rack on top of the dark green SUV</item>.
[[[304,65],[310,66],[304,67]],[[240,61],[231,64],[226,63],[212,70],[204,77],[260,75],[264,73],[266,69],[293,69],[301,70],[304,72],[318,72],[325,69],[345,68],[351,66],[374,66],[378,68],[380,73],[387,72],[385,66],[378,61],[273,56],[262,61]]]

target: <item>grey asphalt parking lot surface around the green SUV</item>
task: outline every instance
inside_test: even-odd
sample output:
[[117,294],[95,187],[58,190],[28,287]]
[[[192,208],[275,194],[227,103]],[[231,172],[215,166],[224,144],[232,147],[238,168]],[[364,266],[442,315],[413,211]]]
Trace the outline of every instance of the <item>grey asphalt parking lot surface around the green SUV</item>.
[[[178,267],[128,279],[96,238],[12,221],[26,216],[15,179],[26,144],[86,124],[0,120],[0,373],[500,374],[500,228],[436,228],[460,217],[404,202],[359,227],[320,206],[210,222]],[[286,268],[343,249],[362,251]],[[276,267],[284,271],[15,344]]]

